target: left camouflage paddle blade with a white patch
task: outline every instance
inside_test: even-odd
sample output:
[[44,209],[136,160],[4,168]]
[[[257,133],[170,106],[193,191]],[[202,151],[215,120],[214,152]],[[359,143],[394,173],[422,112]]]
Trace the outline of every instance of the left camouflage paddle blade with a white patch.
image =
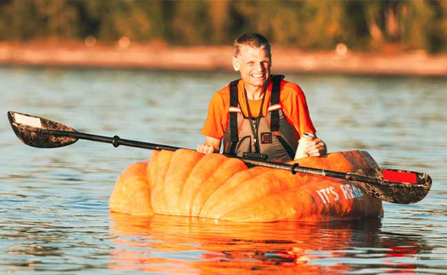
[[76,130],[64,124],[34,115],[8,111],[12,130],[24,144],[37,148],[56,148],[73,144],[78,139],[64,133]]

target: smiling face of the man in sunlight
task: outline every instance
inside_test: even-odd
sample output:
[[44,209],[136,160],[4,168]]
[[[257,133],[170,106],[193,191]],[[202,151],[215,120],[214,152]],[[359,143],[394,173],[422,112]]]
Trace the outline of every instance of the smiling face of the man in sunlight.
[[270,76],[272,58],[263,48],[242,45],[239,54],[233,57],[232,61],[233,68],[241,73],[246,85],[263,87]]

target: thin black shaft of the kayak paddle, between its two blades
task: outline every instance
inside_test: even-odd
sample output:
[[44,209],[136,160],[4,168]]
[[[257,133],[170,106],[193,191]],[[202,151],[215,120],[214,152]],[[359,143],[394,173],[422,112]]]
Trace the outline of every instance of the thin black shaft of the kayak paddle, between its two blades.
[[[135,140],[125,140],[118,135],[114,135],[113,137],[107,137],[103,135],[92,135],[89,133],[82,133],[78,131],[60,131],[60,130],[50,130],[50,129],[43,129],[41,130],[41,133],[47,134],[47,135],[58,135],[58,136],[64,136],[64,137],[75,137],[80,140],[91,140],[96,142],[105,142],[113,144],[114,147],[118,147],[120,145],[122,146],[130,146],[130,147],[136,147],[136,148],[144,148],[149,150],[167,150],[167,151],[176,151],[178,149],[181,149],[181,147],[175,147],[175,146],[168,146],[163,144],[155,144],[150,142],[138,142]],[[257,159],[247,159],[242,157],[236,157],[234,155],[226,155],[227,157],[235,157],[237,159],[241,159],[246,164],[254,165],[254,166],[264,166],[269,168],[276,168],[276,169],[282,169],[282,170],[289,170],[291,173],[307,173],[312,175],[321,175],[326,177],[336,177],[338,179],[347,179],[349,181],[363,181],[367,182],[369,184],[381,184],[381,182],[373,177],[365,177],[358,174],[353,173],[341,173],[336,172],[332,170],[324,170],[324,169],[318,169],[318,168],[311,168],[311,167],[303,167],[298,166],[298,164],[282,164],[278,162],[267,162]]]

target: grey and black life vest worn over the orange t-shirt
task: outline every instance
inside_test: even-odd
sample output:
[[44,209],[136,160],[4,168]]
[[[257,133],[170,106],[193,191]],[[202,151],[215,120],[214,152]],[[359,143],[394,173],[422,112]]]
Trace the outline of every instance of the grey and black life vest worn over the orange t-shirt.
[[259,115],[259,118],[243,115],[237,91],[240,79],[230,83],[230,120],[223,133],[223,153],[272,162],[294,159],[299,133],[287,122],[279,104],[283,78],[281,75],[272,76],[270,106],[266,115]]

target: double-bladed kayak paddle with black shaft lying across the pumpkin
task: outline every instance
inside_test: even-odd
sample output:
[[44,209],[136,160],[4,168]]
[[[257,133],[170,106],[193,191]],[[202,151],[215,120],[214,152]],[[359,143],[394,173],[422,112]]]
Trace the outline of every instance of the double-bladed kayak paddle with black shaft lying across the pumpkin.
[[[138,142],[135,140],[124,140],[118,135],[106,137],[102,135],[92,135],[81,133],[59,122],[47,120],[34,115],[8,111],[8,119],[12,130],[16,133],[19,140],[23,143],[37,148],[56,148],[73,144],[78,140],[92,140],[96,142],[105,142],[118,147],[131,146],[150,150],[168,150],[176,151],[180,147],[168,146],[162,144],[153,144],[149,142]],[[227,157],[235,157],[226,155]],[[298,164],[281,164],[262,160],[241,159],[246,164],[254,166],[265,166],[290,170],[295,173],[308,173],[313,175],[322,175],[326,177],[335,177],[346,179],[358,186],[363,192],[371,197],[389,201],[391,203],[416,203],[427,195],[430,190],[432,180],[425,173],[417,173],[407,170],[382,169],[383,177],[370,177],[357,173],[342,173],[332,170],[319,168],[303,167]]]

